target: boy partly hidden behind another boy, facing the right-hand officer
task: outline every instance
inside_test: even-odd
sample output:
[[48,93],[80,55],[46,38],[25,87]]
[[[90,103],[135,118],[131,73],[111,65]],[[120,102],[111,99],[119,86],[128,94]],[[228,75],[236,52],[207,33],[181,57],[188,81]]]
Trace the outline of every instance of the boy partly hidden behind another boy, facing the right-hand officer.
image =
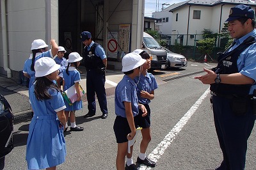
[[135,77],[134,81],[137,84],[137,96],[139,104],[143,104],[147,109],[147,116],[140,116],[143,114],[141,110],[139,111],[139,120],[138,125],[142,128],[142,141],[140,143],[140,154],[138,155],[137,162],[138,164],[145,164],[150,167],[155,167],[156,162],[148,159],[146,157],[146,150],[148,143],[151,141],[150,134],[150,100],[154,99],[154,90],[158,88],[156,79],[152,73],[148,73],[147,70],[150,69],[150,56],[145,50],[136,49],[133,52],[140,54],[141,58],[146,59],[147,61],[143,64],[143,70],[140,76]]

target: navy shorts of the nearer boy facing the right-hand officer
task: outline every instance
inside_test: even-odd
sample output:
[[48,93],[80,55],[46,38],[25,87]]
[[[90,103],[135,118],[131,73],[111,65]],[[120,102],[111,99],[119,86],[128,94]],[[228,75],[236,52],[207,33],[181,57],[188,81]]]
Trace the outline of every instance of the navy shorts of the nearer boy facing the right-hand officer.
[[[134,124],[137,128],[138,125],[136,122],[138,119],[138,116],[134,117]],[[126,143],[128,142],[127,135],[131,133],[131,128],[129,127],[129,123],[127,121],[127,118],[123,118],[122,116],[116,116],[115,123],[114,123],[114,132],[116,135],[116,143]]]

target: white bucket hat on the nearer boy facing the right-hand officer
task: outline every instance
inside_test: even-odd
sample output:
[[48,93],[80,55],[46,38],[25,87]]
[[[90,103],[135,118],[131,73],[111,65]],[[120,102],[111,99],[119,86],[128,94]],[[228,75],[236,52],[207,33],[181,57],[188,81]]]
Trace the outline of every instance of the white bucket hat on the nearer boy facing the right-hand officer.
[[141,58],[139,54],[136,54],[134,52],[128,53],[122,59],[122,72],[128,72],[130,70],[133,70],[134,68],[143,65],[146,61],[147,60]]

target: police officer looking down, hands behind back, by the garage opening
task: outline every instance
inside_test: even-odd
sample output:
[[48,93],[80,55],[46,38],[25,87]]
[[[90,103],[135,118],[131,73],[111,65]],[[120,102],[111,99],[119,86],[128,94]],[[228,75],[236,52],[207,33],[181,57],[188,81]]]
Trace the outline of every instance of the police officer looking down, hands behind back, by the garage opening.
[[108,118],[107,98],[105,89],[105,73],[107,67],[107,56],[104,49],[92,40],[92,35],[88,31],[83,31],[80,35],[84,43],[84,63],[87,71],[86,75],[86,96],[88,101],[89,112],[84,118],[90,118],[95,115],[97,95],[102,119]]

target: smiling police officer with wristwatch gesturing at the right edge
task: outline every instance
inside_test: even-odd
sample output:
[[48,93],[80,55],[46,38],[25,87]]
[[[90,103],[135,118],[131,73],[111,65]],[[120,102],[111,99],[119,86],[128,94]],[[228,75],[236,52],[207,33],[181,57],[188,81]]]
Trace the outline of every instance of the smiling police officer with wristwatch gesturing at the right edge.
[[239,4],[230,9],[226,22],[234,43],[220,54],[216,68],[204,68],[206,74],[195,79],[211,84],[214,124],[223,152],[217,169],[244,169],[247,140],[255,122],[254,12],[250,6]]

